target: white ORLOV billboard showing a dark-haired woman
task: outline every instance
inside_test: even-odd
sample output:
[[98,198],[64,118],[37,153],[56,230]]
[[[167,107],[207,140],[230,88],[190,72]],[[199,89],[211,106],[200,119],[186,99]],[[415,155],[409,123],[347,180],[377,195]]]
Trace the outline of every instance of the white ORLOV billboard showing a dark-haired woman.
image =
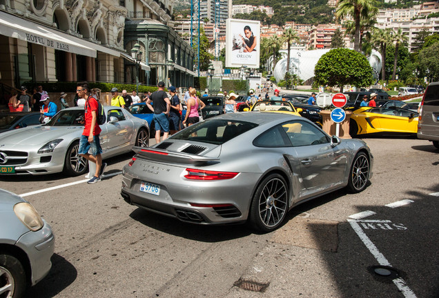
[[260,21],[227,19],[226,67],[259,68]]

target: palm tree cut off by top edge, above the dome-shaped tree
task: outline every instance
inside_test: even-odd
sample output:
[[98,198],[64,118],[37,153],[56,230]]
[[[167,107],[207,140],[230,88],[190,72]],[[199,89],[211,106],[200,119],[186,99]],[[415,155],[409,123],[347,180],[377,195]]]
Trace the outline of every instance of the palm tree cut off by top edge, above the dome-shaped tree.
[[353,49],[360,52],[361,21],[373,19],[378,13],[375,0],[340,0],[335,10],[336,17],[350,15],[354,19]]

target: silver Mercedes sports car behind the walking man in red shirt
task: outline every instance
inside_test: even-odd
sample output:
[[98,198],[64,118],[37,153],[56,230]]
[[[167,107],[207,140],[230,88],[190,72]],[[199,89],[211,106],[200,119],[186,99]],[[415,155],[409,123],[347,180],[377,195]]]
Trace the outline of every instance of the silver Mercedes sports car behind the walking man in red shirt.
[[[133,146],[149,145],[148,123],[127,110],[104,106],[101,125],[102,159],[130,152]],[[84,107],[67,108],[46,125],[0,134],[0,175],[43,175],[65,172],[84,175],[88,161],[78,155],[84,131]]]

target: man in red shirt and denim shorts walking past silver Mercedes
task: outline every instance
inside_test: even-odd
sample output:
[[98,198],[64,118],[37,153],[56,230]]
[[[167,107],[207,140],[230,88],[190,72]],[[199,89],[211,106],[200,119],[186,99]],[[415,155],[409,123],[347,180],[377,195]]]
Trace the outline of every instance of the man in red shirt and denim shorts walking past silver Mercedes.
[[[96,163],[95,176],[87,182],[91,184],[101,181],[101,175],[107,166],[106,163],[102,164],[102,148],[99,143],[99,134],[101,133],[101,128],[97,123],[97,110],[99,106],[97,100],[89,94],[90,88],[88,88],[88,83],[77,86],[77,92],[79,98],[86,99],[86,106],[84,107],[84,119],[86,124],[79,141],[78,154]],[[89,150],[91,154],[88,153]]]

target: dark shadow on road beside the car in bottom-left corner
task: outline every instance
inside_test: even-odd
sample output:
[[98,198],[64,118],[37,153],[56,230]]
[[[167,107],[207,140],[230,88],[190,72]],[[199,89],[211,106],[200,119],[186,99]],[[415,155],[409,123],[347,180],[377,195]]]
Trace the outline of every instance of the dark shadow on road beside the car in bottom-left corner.
[[76,268],[64,257],[52,255],[52,268],[49,274],[26,292],[28,298],[50,298],[70,286],[77,277]]

